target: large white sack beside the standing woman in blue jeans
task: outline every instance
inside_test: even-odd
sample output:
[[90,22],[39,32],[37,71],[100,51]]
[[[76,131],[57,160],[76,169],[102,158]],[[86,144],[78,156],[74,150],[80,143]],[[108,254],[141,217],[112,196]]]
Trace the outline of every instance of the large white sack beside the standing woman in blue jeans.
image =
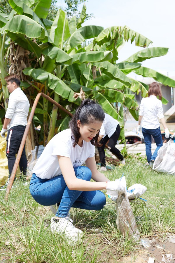
[[153,163],[153,170],[175,175],[175,143],[164,143],[157,152]]

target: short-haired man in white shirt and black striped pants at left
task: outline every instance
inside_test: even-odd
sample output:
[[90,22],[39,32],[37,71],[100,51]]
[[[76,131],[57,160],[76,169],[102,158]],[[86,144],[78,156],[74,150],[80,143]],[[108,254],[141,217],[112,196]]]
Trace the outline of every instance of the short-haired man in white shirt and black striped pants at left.
[[[24,130],[27,124],[29,101],[20,88],[20,79],[16,74],[12,74],[6,77],[5,80],[7,82],[7,89],[10,93],[10,96],[8,100],[8,108],[6,111],[3,128],[1,130],[1,137],[5,137],[5,133],[8,128],[8,134],[6,138],[6,155],[8,159],[8,170],[10,178],[16,159],[16,153],[19,150]],[[20,172],[22,172],[25,177],[27,171],[25,146],[22,151],[19,165]]]

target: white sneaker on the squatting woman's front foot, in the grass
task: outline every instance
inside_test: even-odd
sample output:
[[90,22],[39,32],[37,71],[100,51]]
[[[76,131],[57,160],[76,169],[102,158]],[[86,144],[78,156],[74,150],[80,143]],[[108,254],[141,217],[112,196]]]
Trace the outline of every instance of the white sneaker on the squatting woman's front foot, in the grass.
[[55,217],[52,217],[50,223],[51,232],[64,234],[69,245],[75,245],[81,240],[83,231],[76,228],[72,223],[73,221],[70,219],[70,217],[62,217],[60,219],[55,219]]

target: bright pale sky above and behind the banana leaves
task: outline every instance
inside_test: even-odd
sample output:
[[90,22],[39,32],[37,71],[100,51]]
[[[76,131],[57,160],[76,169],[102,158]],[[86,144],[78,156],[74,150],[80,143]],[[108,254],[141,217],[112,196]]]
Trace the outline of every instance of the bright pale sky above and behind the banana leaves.
[[[142,66],[175,77],[175,0],[88,0],[86,13],[94,18],[83,25],[128,26],[147,37],[153,44],[149,47],[168,47],[167,55],[143,61]],[[59,6],[65,6],[58,0]],[[83,4],[79,6],[82,9]],[[130,40],[119,51],[118,63],[143,47]]]

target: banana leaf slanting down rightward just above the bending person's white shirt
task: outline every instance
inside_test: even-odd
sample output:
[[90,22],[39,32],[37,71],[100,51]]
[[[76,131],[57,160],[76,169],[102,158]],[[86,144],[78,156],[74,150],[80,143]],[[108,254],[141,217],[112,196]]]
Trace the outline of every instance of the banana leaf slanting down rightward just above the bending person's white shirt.
[[104,109],[106,113],[111,115],[115,120],[118,120],[118,121],[121,120],[121,117],[118,114],[118,112],[113,108],[111,103],[105,98],[104,95],[97,92],[97,94],[95,95],[95,99],[99,102],[99,104],[101,104],[102,108]]

